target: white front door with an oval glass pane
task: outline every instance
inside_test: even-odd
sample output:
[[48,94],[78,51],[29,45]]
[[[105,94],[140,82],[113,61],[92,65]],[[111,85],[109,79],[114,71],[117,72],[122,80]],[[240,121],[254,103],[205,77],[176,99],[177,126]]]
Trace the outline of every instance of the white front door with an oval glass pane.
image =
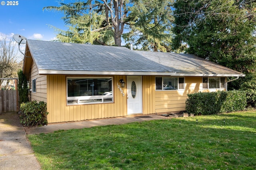
[[142,113],[141,76],[127,76],[127,114]]

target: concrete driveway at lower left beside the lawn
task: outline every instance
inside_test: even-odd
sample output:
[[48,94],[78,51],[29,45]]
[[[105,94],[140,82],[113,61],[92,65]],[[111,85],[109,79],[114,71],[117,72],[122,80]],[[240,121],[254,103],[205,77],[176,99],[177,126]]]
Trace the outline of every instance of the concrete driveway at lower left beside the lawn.
[[40,170],[17,113],[0,113],[0,170]]

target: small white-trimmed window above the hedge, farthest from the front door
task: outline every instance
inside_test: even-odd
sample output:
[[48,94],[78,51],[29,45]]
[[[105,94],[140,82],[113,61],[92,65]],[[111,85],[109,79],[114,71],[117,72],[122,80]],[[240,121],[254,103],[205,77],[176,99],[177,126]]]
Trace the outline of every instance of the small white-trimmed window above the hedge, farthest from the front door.
[[225,89],[225,77],[203,77],[203,89]]

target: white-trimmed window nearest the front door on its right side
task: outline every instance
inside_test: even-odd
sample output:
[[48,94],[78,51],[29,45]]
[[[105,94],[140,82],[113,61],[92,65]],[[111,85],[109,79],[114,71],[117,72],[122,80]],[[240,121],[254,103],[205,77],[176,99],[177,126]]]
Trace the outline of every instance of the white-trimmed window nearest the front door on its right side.
[[185,89],[184,77],[156,77],[156,90]]

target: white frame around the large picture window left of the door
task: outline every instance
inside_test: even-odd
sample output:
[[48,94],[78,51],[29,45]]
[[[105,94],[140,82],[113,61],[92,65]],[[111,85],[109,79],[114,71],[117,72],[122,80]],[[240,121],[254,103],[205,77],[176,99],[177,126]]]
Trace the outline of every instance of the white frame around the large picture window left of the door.
[[[68,97],[68,79],[111,79],[112,95],[95,95],[95,96],[75,96]],[[66,77],[66,103],[67,105],[86,105],[86,104],[98,104],[98,103],[114,103],[114,89],[113,89],[113,77]],[[100,101],[101,100],[101,101]],[[106,100],[106,101],[104,101]],[[108,101],[107,101],[108,100]],[[110,101],[109,101],[110,100]],[[70,102],[74,103],[70,103]]]

